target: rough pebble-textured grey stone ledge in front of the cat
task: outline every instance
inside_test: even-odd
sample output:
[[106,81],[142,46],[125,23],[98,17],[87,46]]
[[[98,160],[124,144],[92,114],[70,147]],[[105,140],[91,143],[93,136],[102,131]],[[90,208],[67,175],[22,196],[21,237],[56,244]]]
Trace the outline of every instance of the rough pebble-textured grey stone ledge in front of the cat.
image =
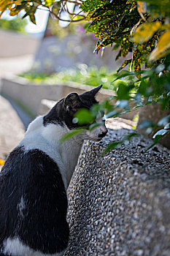
[[144,153],[139,136],[101,157],[107,143],[130,129],[109,130],[100,143],[86,141],[69,186],[69,248],[65,256],[169,256],[169,150]]

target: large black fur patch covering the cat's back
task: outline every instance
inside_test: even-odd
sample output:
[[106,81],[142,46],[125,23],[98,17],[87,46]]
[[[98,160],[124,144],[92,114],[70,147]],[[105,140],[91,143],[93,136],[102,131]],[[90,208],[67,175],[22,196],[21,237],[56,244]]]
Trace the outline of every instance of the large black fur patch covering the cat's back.
[[39,149],[15,148],[0,173],[0,251],[15,236],[46,254],[63,251],[69,241],[66,211],[58,165]]

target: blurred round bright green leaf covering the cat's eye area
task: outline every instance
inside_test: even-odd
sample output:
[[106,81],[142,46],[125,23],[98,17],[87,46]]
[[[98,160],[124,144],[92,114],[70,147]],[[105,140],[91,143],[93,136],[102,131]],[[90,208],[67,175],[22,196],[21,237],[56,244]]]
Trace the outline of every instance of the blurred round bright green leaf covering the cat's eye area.
[[91,124],[95,121],[94,116],[90,112],[90,110],[86,108],[82,108],[75,113],[74,118],[78,119],[78,124]]

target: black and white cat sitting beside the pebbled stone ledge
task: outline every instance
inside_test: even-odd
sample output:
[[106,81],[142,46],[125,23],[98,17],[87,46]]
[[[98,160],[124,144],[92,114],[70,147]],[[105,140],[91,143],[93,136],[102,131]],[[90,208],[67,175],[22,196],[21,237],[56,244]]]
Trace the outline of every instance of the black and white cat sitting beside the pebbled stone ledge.
[[69,241],[66,189],[83,140],[99,141],[104,125],[59,143],[80,108],[96,104],[101,86],[69,94],[29,125],[0,173],[0,256],[59,256]]

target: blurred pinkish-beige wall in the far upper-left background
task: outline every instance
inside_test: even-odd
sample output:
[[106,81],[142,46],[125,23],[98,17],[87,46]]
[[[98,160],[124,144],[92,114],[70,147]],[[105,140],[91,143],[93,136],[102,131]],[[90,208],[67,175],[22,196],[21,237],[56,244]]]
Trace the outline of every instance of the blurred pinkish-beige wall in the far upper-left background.
[[0,29],[0,58],[34,54],[40,39]]

